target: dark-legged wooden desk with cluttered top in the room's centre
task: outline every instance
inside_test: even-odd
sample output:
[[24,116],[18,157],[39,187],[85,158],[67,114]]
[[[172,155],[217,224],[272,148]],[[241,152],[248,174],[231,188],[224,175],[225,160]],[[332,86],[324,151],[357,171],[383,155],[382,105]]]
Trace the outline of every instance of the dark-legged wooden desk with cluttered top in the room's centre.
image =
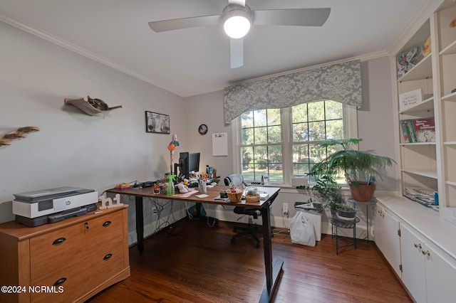
[[[264,249],[264,268],[266,271],[266,285],[264,286],[263,292],[259,302],[269,302],[276,287],[279,274],[281,274],[282,266],[284,265],[283,260],[276,260],[274,266],[272,264],[272,241],[271,241],[271,204],[274,202],[276,197],[279,195],[280,188],[276,187],[259,187],[260,191],[269,193],[269,198],[266,201],[259,201],[259,203],[246,203],[245,200],[239,203],[231,203],[227,201],[214,200],[215,197],[219,196],[220,189],[222,187],[214,186],[213,188],[207,188],[207,197],[198,198],[193,194],[192,196],[185,196],[185,194],[177,194],[175,196],[166,196],[165,194],[153,193],[152,187],[149,188],[130,188],[130,189],[109,189],[108,193],[120,193],[123,195],[135,196],[136,203],[136,234],[138,235],[138,249],[140,252],[144,251],[144,223],[142,213],[142,198],[160,198],[174,201],[189,201],[195,203],[209,203],[219,205],[229,205],[247,208],[258,208],[261,211],[261,218],[263,223],[263,249]],[[198,194],[198,193],[196,193]]]

